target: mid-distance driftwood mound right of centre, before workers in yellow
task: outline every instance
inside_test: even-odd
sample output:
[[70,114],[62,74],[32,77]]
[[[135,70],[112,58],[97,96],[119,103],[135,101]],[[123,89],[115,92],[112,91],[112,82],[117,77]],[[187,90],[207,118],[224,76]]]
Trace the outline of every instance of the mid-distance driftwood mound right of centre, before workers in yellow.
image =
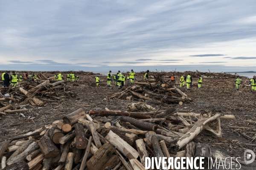
[[[167,81],[168,82],[168,81]],[[147,79],[142,82],[134,82],[134,85],[126,88],[124,91],[112,94],[104,100],[109,99],[126,99],[134,100],[142,99],[157,105],[164,103],[165,105],[172,106],[170,104],[183,104],[183,102],[192,102],[185,93],[179,88],[167,84],[167,82],[160,82],[156,79]]]

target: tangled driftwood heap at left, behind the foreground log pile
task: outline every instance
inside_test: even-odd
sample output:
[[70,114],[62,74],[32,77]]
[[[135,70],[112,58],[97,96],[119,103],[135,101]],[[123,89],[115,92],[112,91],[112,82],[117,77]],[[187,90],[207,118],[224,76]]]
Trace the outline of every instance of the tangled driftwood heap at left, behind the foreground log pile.
[[[75,96],[71,86],[65,83],[65,80],[56,81],[50,77],[47,78],[42,73],[37,74],[38,79],[22,79],[16,87],[9,85],[7,88],[0,88],[0,114],[17,113],[29,111],[26,104],[42,107],[45,102],[58,103],[62,98],[71,98]],[[9,94],[5,96],[4,94]]]

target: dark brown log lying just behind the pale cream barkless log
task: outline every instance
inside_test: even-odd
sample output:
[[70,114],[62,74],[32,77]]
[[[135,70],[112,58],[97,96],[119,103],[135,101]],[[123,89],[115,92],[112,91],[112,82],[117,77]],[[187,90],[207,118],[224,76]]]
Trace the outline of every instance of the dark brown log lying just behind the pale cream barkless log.
[[131,146],[134,146],[135,141],[138,139],[137,135],[135,135],[129,131],[122,130],[118,127],[110,126],[110,127],[108,127],[108,129],[112,130],[113,133],[116,133],[120,138],[122,138],[125,142],[127,142]]

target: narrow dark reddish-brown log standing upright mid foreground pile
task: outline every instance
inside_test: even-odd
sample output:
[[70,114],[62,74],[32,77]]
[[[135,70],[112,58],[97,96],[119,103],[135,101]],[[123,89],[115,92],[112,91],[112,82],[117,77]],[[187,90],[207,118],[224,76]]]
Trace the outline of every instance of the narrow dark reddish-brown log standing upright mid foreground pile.
[[77,123],[74,126],[75,126],[75,132],[76,132],[76,148],[85,149],[87,146],[87,140],[85,138],[83,124]]

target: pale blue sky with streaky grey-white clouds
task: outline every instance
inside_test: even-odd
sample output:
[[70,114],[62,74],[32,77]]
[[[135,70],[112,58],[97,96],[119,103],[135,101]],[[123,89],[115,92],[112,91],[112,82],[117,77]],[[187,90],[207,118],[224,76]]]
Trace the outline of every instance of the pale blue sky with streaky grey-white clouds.
[[0,70],[256,71],[255,0],[1,0]]

